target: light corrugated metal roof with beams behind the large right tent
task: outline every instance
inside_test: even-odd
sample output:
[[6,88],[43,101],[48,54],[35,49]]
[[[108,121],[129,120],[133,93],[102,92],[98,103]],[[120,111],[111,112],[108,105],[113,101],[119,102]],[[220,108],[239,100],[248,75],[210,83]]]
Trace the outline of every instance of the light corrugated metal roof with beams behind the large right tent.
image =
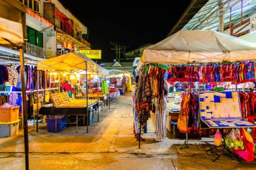
[[[243,3],[243,4],[241,4]],[[243,9],[241,9],[243,7]],[[219,16],[224,17],[224,31],[228,30],[230,25],[233,27],[236,24],[242,24],[249,17],[255,13],[256,1],[243,0],[243,1],[222,1],[209,0],[201,9],[193,16],[193,18],[185,24],[183,30],[215,30],[219,31],[220,19]],[[241,15],[243,11],[243,15]],[[232,22],[230,22],[230,19]],[[243,22],[242,22],[243,21]],[[247,23],[245,23],[247,24]],[[241,25],[241,26],[242,26]],[[245,26],[245,25],[243,25]],[[235,28],[233,28],[235,29]],[[236,29],[236,32],[244,31],[243,27]]]

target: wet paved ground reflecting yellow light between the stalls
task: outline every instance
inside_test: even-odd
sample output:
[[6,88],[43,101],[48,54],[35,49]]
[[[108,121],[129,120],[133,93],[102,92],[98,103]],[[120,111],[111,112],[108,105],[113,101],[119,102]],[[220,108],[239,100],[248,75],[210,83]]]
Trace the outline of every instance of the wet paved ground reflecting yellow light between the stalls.
[[[154,141],[152,121],[148,121],[146,141],[133,134],[131,94],[111,101],[104,107],[100,121],[94,116],[89,126],[69,126],[62,132],[47,132],[46,124],[39,132],[29,128],[30,169],[256,169],[256,161],[247,163],[222,155],[216,157],[213,138],[189,140],[174,138],[169,132],[163,142]],[[0,138],[0,169],[25,169],[24,136]],[[207,152],[206,152],[207,151]]]

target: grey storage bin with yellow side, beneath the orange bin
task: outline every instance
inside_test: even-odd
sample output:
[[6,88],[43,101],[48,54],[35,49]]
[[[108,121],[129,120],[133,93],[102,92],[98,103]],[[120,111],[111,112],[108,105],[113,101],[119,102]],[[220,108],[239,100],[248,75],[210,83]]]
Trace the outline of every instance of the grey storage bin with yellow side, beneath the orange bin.
[[0,123],[0,138],[15,136],[19,132],[20,120]]

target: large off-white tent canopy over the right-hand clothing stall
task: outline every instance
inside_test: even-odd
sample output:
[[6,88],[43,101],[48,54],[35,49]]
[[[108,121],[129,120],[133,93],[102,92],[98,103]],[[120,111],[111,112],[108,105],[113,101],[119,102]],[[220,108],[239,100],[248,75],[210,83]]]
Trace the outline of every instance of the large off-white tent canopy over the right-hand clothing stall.
[[181,30],[145,50],[142,62],[187,63],[256,59],[256,43],[213,30]]

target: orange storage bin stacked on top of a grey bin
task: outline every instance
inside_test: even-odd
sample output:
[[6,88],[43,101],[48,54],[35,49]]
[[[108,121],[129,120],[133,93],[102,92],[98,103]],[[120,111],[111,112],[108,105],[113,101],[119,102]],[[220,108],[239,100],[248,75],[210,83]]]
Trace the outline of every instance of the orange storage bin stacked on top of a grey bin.
[[0,122],[13,122],[19,120],[20,106],[0,107]]

